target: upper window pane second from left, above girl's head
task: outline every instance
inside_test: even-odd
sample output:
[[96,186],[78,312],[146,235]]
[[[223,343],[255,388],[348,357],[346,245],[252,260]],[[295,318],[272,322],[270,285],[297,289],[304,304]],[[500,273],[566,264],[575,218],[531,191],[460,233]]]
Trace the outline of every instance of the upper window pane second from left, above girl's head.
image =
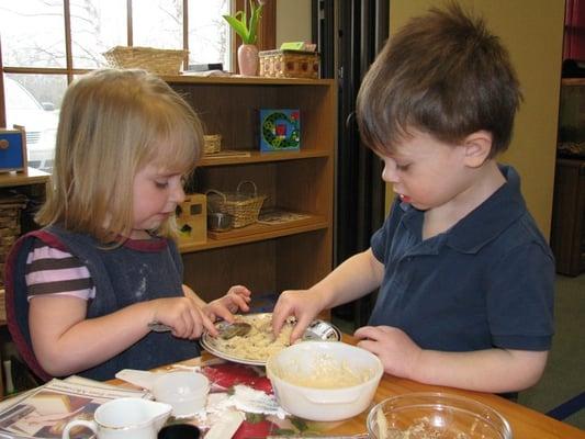
[[75,68],[105,66],[102,54],[126,45],[126,0],[71,0]]

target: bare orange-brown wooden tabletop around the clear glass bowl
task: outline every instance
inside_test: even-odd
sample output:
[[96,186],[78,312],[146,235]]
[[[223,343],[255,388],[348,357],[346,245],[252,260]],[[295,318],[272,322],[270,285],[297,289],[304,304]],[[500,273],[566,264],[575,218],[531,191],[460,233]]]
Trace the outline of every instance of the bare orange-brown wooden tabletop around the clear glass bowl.
[[[357,342],[356,338],[348,335],[344,335],[342,339],[351,345]],[[212,354],[203,351],[201,358],[187,360],[181,364],[199,365],[202,361],[204,362],[212,358],[214,358]],[[112,383],[121,384],[122,382],[113,380]],[[509,421],[514,439],[585,439],[585,431],[497,395],[421,384],[389,374],[382,376],[373,403],[379,403],[390,396],[409,392],[448,392],[484,403],[498,410]],[[330,430],[327,430],[327,434],[347,436],[363,435],[367,432],[367,416],[368,412],[364,412],[344,423],[336,423],[337,425]]]

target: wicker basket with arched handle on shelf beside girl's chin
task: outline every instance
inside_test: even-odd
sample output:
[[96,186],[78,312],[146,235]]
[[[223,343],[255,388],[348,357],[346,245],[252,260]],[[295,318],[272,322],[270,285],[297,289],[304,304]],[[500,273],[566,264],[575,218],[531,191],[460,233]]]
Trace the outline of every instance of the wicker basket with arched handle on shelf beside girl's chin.
[[[244,192],[244,184],[251,184],[252,192]],[[258,221],[260,209],[266,195],[258,195],[258,188],[254,181],[240,181],[236,192],[221,192],[210,189],[207,195],[207,212],[227,213],[234,217],[234,227],[244,227]]]

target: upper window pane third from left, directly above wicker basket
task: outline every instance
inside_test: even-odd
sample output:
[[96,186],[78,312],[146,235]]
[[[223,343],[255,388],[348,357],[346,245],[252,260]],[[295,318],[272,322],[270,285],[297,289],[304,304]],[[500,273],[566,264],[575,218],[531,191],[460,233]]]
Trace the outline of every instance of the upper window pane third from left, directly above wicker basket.
[[[209,1],[198,1],[207,4]],[[183,47],[182,0],[133,1],[134,45],[156,48]]]

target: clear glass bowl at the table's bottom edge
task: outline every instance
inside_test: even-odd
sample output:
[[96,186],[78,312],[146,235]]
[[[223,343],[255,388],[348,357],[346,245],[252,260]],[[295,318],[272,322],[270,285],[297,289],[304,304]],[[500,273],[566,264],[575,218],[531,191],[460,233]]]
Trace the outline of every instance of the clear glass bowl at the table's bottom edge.
[[511,439],[508,421],[485,404],[447,393],[408,393],[368,415],[373,439]]

